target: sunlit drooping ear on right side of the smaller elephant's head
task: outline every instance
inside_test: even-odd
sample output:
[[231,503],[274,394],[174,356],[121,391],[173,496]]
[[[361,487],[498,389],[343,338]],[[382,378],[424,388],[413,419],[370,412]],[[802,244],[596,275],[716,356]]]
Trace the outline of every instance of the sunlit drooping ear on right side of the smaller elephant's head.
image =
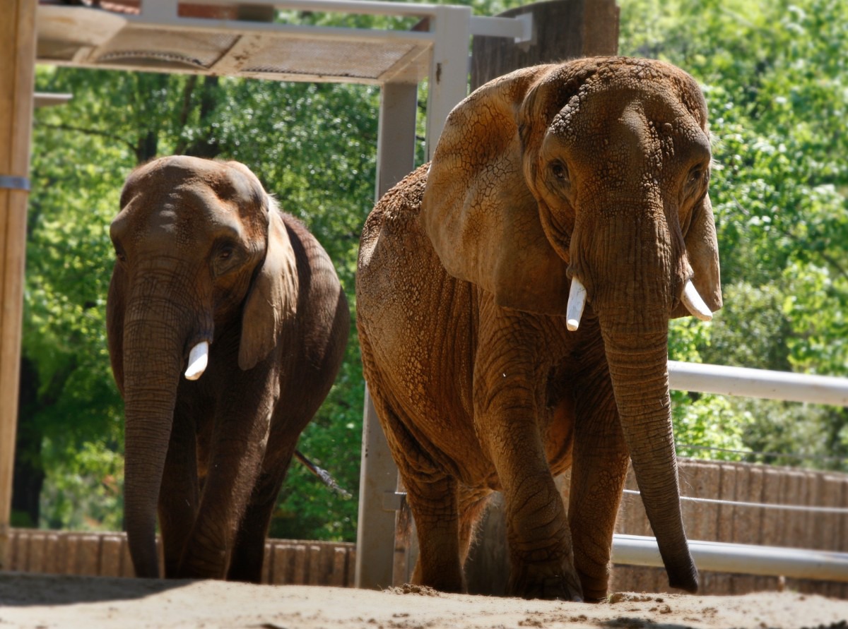
[[297,310],[297,259],[273,199],[265,195],[268,231],[265,259],[244,303],[238,366],[252,369],[276,347],[282,328]]

